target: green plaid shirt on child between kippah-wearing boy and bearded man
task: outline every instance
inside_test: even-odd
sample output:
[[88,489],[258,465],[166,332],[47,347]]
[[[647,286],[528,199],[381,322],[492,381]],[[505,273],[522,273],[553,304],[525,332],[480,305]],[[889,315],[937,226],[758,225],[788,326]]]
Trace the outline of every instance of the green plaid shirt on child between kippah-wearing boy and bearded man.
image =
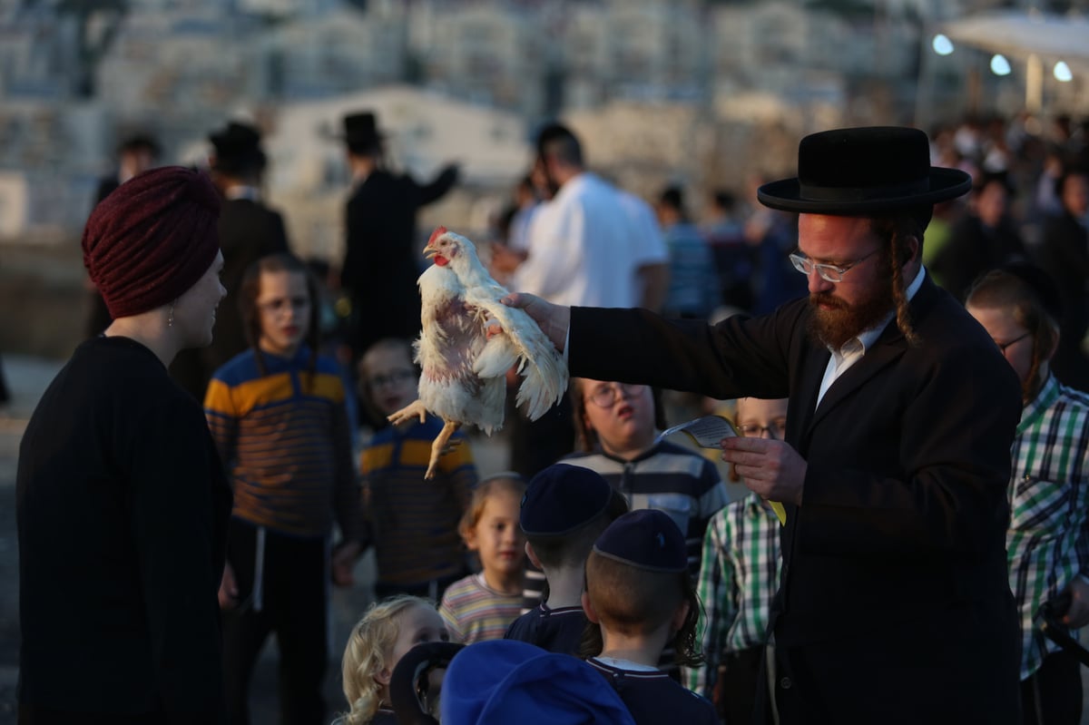
[[685,683],[710,698],[725,652],[763,646],[779,589],[779,519],[755,494],[711,517],[703,536],[697,592],[705,616],[696,629],[707,663],[685,668]]

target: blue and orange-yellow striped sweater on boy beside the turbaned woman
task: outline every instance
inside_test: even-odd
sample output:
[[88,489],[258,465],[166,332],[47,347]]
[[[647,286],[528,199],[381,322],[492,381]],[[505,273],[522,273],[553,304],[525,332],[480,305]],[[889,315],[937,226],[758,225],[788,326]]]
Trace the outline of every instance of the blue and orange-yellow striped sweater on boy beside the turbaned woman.
[[234,488],[233,516],[299,537],[325,537],[333,515],[345,539],[363,537],[359,491],[340,371],[310,352],[248,349],[216,371],[205,415]]

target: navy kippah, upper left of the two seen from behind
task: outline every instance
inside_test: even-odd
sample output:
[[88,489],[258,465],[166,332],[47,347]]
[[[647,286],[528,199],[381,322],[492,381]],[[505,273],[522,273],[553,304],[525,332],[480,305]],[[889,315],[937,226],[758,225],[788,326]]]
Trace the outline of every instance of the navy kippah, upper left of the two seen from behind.
[[519,523],[530,537],[570,533],[604,512],[612,487],[589,468],[554,464],[534,476],[522,497]]

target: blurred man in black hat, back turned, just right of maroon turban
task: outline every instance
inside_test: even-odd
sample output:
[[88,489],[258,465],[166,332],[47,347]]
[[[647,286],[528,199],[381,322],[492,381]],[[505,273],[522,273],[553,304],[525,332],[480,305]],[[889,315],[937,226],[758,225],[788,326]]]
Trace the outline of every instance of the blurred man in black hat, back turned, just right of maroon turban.
[[171,376],[198,401],[204,400],[212,373],[249,346],[238,309],[238,288],[249,265],[265,255],[289,251],[283,217],[261,200],[261,177],[268,158],[256,126],[230,121],[211,133],[209,167],[212,183],[223,196],[219,242],[223,250],[220,281],[227,297],[220,303],[212,343],[185,351],[175,358]]

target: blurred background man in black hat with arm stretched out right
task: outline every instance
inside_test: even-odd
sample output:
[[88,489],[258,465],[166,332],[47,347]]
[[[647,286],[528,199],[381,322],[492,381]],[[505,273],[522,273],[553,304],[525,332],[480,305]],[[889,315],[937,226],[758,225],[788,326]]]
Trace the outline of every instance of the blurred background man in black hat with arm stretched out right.
[[[450,164],[427,184],[384,167],[382,135],[374,113],[344,118],[344,143],[352,171],[341,286],[352,302],[348,343],[354,357],[382,337],[419,334],[419,249],[416,211],[442,198],[457,181]],[[420,246],[423,248],[423,246]]]

